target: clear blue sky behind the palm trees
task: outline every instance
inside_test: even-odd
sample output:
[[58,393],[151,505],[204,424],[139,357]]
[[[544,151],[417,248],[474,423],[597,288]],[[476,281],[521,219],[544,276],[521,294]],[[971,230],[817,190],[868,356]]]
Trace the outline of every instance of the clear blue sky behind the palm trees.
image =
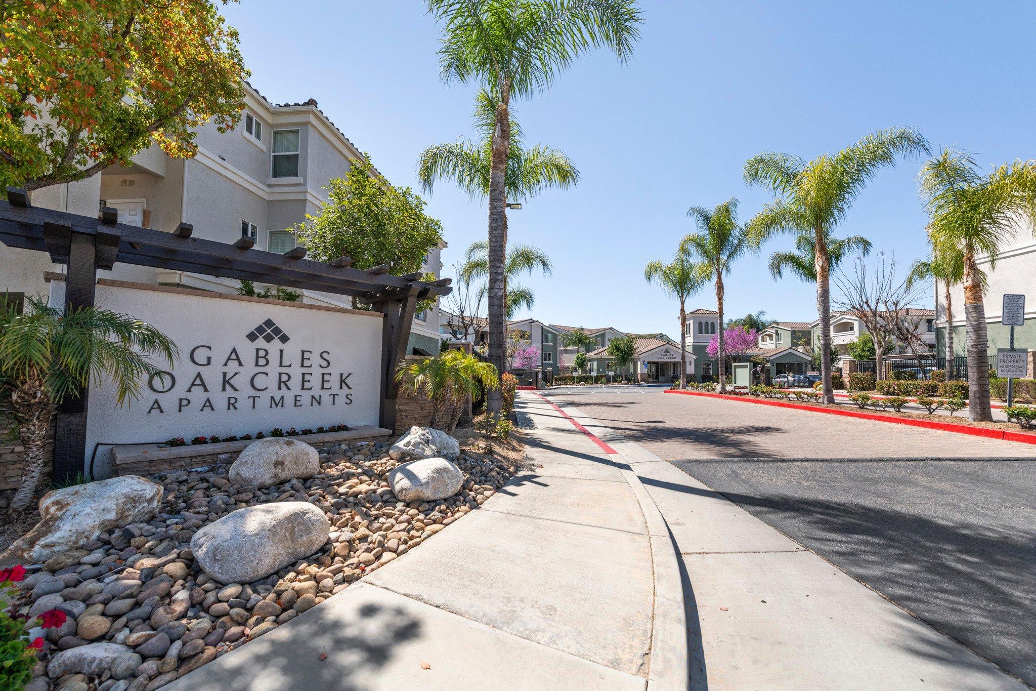
[[[424,3],[244,0],[225,15],[241,33],[253,84],[270,100],[316,98],[395,183],[416,188],[430,144],[470,135],[473,89],[438,77],[437,29]],[[529,143],[578,165],[575,190],[549,191],[510,217],[510,238],[545,250],[550,277],[537,318],[678,336],[677,303],[643,281],[693,227],[692,205],[741,200],[743,220],[769,200],[742,179],[764,150],[813,157],[893,125],[936,146],[976,153],[983,166],[1036,157],[1033,28],[1036,4],[674,2],[651,0],[632,60],[579,59],[553,88],[516,106]],[[862,234],[905,265],[924,254],[918,161],[881,172],[838,234]],[[486,235],[486,209],[449,183],[427,196],[443,223],[449,265]],[[815,318],[812,285],[774,281],[771,241],[726,280],[730,316]],[[704,289],[690,308],[715,309]]]

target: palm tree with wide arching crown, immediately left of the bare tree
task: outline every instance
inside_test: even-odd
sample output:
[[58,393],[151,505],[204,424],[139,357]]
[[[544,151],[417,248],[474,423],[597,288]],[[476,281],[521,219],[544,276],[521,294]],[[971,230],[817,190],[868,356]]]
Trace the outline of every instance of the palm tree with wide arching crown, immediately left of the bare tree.
[[[754,246],[777,233],[813,237],[813,276],[821,321],[821,352],[831,350],[831,254],[828,241],[844,220],[853,200],[874,173],[904,154],[928,151],[916,129],[893,127],[868,135],[835,154],[805,161],[787,153],[765,152],[745,163],[745,181],[771,190],[777,199],[762,207],[748,224]],[[831,363],[821,358],[824,400],[834,403]]]

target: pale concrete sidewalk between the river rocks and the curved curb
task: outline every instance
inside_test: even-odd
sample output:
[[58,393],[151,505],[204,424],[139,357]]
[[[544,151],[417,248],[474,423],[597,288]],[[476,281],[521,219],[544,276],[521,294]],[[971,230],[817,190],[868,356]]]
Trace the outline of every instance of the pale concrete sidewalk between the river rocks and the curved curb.
[[529,469],[479,511],[167,688],[685,689],[661,514],[550,404],[522,393],[517,408]]

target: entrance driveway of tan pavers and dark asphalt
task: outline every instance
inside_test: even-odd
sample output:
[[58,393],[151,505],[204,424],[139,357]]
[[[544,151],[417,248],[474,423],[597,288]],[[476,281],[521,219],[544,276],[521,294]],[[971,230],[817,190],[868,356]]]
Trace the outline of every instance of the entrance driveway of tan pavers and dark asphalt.
[[[1032,447],[659,388],[551,395],[1036,686]],[[953,460],[883,460],[940,448]],[[851,456],[869,458],[830,460]]]

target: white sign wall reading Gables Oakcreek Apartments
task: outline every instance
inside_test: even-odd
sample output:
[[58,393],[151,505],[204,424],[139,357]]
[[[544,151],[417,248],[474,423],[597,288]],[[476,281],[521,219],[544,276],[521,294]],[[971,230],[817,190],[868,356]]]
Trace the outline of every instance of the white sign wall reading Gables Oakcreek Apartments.
[[[97,443],[378,424],[380,314],[132,285],[98,283],[96,305],[155,326],[180,355],[127,406],[110,383],[91,386],[87,463]],[[63,304],[64,283],[52,286]]]

